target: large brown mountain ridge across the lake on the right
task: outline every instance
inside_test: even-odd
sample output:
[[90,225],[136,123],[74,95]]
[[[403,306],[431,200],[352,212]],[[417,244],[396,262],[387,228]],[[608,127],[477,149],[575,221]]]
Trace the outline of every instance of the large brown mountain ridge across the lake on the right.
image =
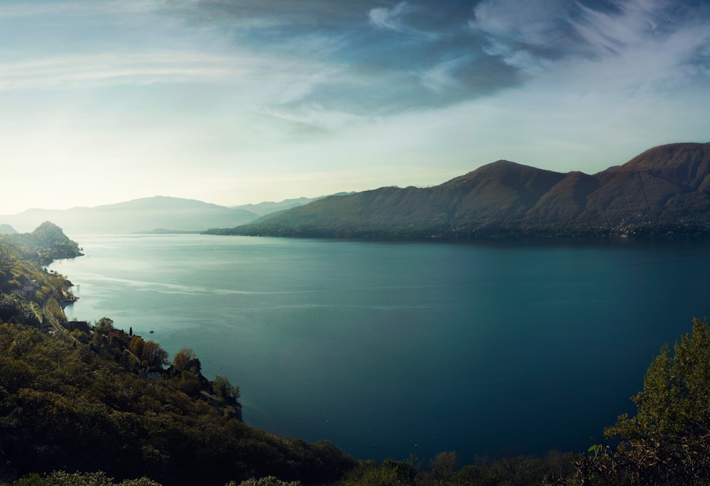
[[469,239],[710,232],[710,144],[651,148],[588,175],[497,161],[432,188],[329,197],[215,234]]

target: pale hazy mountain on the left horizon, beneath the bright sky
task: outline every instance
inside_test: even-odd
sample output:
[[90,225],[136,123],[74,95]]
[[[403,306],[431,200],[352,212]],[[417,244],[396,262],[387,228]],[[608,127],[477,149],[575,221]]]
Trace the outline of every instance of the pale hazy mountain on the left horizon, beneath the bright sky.
[[69,210],[31,209],[18,215],[0,216],[0,222],[28,230],[52,221],[68,234],[202,231],[210,227],[234,226],[255,220],[258,215],[242,209],[207,202],[155,196],[97,207]]

